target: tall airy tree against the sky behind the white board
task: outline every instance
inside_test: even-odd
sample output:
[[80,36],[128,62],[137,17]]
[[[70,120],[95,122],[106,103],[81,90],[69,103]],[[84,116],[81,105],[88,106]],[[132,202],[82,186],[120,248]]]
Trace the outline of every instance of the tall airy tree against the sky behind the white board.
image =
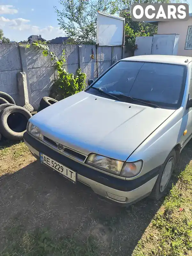
[[60,0],[59,3],[63,10],[55,7],[55,11],[60,29],[65,30],[70,38],[69,42],[95,44],[97,11],[115,14],[121,7],[122,0]]

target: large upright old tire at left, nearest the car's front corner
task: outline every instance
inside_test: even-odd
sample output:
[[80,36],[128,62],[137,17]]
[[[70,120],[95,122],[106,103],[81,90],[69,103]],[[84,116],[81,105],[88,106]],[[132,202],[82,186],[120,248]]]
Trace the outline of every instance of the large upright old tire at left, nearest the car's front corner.
[[[10,140],[22,140],[31,113],[23,107],[10,106],[0,113],[0,132]],[[15,121],[12,121],[12,119]]]

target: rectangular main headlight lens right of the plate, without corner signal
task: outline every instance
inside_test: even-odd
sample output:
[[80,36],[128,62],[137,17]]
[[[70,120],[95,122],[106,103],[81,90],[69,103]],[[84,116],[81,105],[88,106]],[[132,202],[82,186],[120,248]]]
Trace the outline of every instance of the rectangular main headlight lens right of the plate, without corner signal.
[[91,154],[88,156],[87,164],[90,164],[96,168],[103,169],[105,171],[120,175],[124,162],[104,157],[97,154]]

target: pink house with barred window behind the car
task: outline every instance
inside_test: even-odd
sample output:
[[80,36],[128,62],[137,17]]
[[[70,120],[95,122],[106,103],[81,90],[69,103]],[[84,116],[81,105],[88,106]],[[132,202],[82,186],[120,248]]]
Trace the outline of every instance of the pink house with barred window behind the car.
[[192,57],[192,13],[188,21],[149,21],[157,24],[157,34],[179,34],[177,55]]

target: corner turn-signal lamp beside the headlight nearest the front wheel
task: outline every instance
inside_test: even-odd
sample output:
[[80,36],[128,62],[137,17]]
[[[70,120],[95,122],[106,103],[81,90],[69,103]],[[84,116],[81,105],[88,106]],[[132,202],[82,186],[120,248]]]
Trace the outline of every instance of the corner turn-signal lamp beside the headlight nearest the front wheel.
[[121,171],[121,176],[126,178],[134,177],[140,173],[142,166],[143,161],[141,160],[134,163],[125,162],[123,169]]

